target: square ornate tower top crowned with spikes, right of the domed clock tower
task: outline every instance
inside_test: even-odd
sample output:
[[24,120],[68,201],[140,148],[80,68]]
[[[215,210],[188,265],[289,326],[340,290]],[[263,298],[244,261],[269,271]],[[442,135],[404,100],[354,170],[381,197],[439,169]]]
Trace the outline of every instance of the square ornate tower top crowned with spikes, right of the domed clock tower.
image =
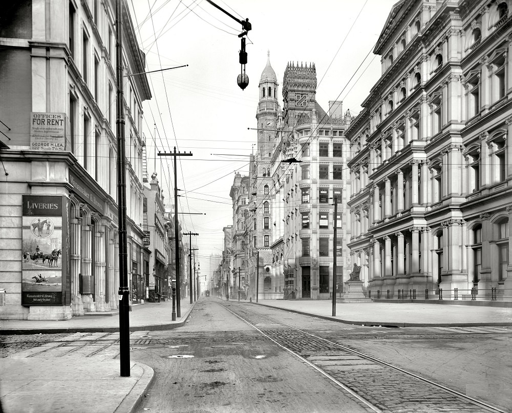
[[[297,117],[311,117],[315,110],[316,68],[314,63],[286,65],[283,78],[284,122],[295,126]],[[304,123],[305,119],[303,119]]]

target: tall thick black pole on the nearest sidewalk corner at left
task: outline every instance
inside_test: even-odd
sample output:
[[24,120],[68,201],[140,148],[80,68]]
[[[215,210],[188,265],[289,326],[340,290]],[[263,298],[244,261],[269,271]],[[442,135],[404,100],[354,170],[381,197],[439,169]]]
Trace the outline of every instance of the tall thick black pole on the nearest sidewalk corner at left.
[[121,377],[130,377],[130,291],[126,238],[126,154],[124,150],[123,17],[122,0],[116,2],[117,73],[117,199],[119,220],[119,361]]

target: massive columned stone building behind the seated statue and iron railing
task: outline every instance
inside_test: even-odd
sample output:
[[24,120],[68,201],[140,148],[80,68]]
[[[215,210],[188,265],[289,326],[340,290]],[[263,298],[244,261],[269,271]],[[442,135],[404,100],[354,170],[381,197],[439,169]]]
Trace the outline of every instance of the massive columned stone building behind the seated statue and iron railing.
[[512,296],[511,39],[509,1],[393,7],[346,131],[349,247],[372,298]]

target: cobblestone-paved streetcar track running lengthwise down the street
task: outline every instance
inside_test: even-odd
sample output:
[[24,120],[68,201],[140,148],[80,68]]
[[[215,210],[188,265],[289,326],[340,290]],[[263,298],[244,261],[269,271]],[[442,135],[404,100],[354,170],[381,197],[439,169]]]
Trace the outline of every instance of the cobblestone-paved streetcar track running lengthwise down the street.
[[[419,376],[419,375],[417,375],[415,373],[412,373],[412,372],[409,372],[407,370],[404,370],[404,369],[402,369],[402,368],[400,368],[398,366],[395,366],[393,364],[387,363],[386,361],[380,360],[380,359],[378,359],[376,357],[373,357],[371,355],[368,355],[368,354],[361,353],[361,352],[359,352],[357,350],[351,349],[350,347],[343,346],[343,345],[341,345],[341,344],[339,344],[337,342],[331,341],[331,340],[329,340],[327,338],[324,338],[322,336],[315,335],[315,334],[309,333],[307,331],[298,329],[296,327],[290,326],[290,325],[288,325],[286,323],[280,322],[279,320],[275,320],[274,318],[272,318],[270,316],[263,315],[261,313],[258,313],[256,311],[254,311],[254,310],[249,310],[246,307],[239,308],[238,311],[240,313],[242,313],[242,314],[244,312],[246,312],[246,313],[247,312],[251,312],[252,314],[240,315],[240,314],[237,314],[236,312],[232,311],[231,309],[229,309],[224,304],[222,304],[222,303],[218,303],[218,304],[220,306],[224,307],[229,312],[231,312],[233,315],[235,315],[235,316],[239,317],[240,319],[242,319],[245,323],[249,324],[252,328],[254,328],[255,330],[259,331],[261,334],[263,334],[266,337],[268,337],[270,340],[275,342],[281,348],[283,348],[286,351],[292,353],[294,356],[299,358],[301,361],[306,362],[308,365],[310,365],[312,368],[317,370],[319,373],[323,374],[329,380],[333,381],[334,383],[336,383],[337,385],[342,387],[345,391],[349,392],[351,395],[356,397],[361,402],[364,402],[367,406],[372,408],[374,411],[394,411],[394,408],[393,407],[387,407],[386,400],[378,400],[378,396],[376,396],[375,394],[373,394],[373,395],[370,394],[371,392],[369,392],[368,389],[366,389],[366,393],[365,393],[365,390],[361,391],[361,389],[359,389],[359,388],[358,388],[357,392],[354,391],[349,385],[343,384],[340,380],[338,380],[337,378],[333,377],[331,374],[326,372],[323,368],[317,366],[316,364],[314,364],[311,361],[307,360],[303,355],[301,355],[298,352],[292,350],[291,347],[293,347],[293,343],[291,343],[291,341],[292,340],[296,340],[296,339],[300,339],[301,336],[293,337],[292,334],[290,334],[290,330],[295,332],[295,333],[299,333],[302,336],[307,335],[310,338],[314,338],[316,340],[322,341],[322,342],[324,342],[327,345],[327,346],[319,346],[319,348],[315,348],[315,349],[313,349],[313,351],[329,351],[329,350],[333,350],[333,349],[342,350],[343,352],[342,352],[342,354],[340,354],[340,356],[343,356],[344,355],[343,353],[345,353],[345,354],[352,354],[352,355],[355,355],[358,358],[362,358],[362,359],[368,360],[368,361],[370,361],[372,363],[375,363],[375,364],[381,366],[383,369],[388,369],[388,370],[392,369],[392,371],[394,371],[395,373],[399,373],[402,376],[404,375],[404,376],[409,377],[409,378],[411,378],[413,380],[420,381],[422,383],[427,383],[427,384],[429,384],[430,386],[432,386],[432,387],[434,387],[436,389],[440,389],[444,393],[446,393],[448,395],[451,395],[451,396],[455,397],[456,399],[459,399],[460,401],[466,403],[466,405],[461,406],[461,411],[475,411],[475,412],[478,412],[478,411],[481,411],[480,410],[481,408],[484,408],[487,411],[495,411],[495,412],[506,413],[506,410],[503,410],[500,407],[490,405],[490,404],[488,404],[488,403],[486,403],[484,401],[472,398],[470,396],[466,396],[466,395],[456,391],[455,389],[452,389],[450,387],[446,387],[445,385],[443,385],[441,383],[437,383],[437,382],[435,382],[433,380],[424,378],[424,377]],[[237,305],[236,304],[234,304],[234,305],[231,304],[230,306],[237,306]],[[250,318],[257,318],[257,322],[255,322],[254,320],[250,320]],[[267,324],[266,325],[268,325],[268,321],[271,321],[273,329],[270,329],[270,328],[269,329],[265,329],[264,328],[265,323],[262,323],[262,318],[267,320]],[[257,325],[263,325],[263,326],[257,327]],[[276,325],[281,325],[283,327],[286,327],[286,328],[288,328],[288,330],[283,330],[283,329],[275,328]],[[288,338],[282,337],[284,332],[288,333],[288,335],[289,335]],[[473,334],[485,334],[485,333],[477,332],[477,333],[473,333]],[[492,334],[494,334],[494,333],[492,333]],[[272,337],[272,335],[274,336],[274,338]],[[458,335],[458,334],[454,334],[454,335]],[[442,335],[442,336],[444,338],[446,338],[446,335]],[[381,338],[381,337],[379,337],[379,338]],[[308,342],[308,345],[310,345],[310,344],[311,343]],[[303,343],[301,343],[301,346],[302,345],[303,345]],[[310,355],[308,354],[307,356],[309,357]],[[348,363],[347,365],[349,366],[348,370],[350,370],[350,363]],[[362,376],[362,374],[365,374],[365,373],[361,374],[361,372],[364,371],[364,370],[365,369],[358,369],[357,372]],[[371,369],[367,369],[367,370],[371,371]],[[355,373],[355,371],[352,371],[351,375],[354,375],[354,373]],[[379,377],[379,375],[375,371],[372,371],[371,373],[366,373],[366,374],[371,374],[372,376],[374,376],[376,378],[376,380],[383,380],[384,378],[390,377],[389,373],[380,374],[380,377]],[[343,374],[340,374],[340,375],[343,376]],[[396,374],[395,374],[395,376],[396,376]],[[398,379],[399,379],[399,377],[398,377]],[[376,380],[374,380],[374,381],[376,381]],[[364,394],[366,398],[362,397],[359,393]],[[433,392],[433,393],[435,393],[435,392]],[[371,398],[372,402],[368,401],[368,398]],[[435,400],[435,394],[433,395],[432,399]],[[414,402],[414,400],[411,400],[411,399],[408,399],[407,401],[409,402],[409,404]],[[473,407],[478,407],[479,410],[472,409],[471,408],[472,406]],[[411,406],[411,410],[410,411],[413,411],[413,410],[414,410],[414,408]],[[408,410],[402,409],[401,411],[408,411]],[[435,405],[432,406],[432,411],[436,411],[435,410]]]

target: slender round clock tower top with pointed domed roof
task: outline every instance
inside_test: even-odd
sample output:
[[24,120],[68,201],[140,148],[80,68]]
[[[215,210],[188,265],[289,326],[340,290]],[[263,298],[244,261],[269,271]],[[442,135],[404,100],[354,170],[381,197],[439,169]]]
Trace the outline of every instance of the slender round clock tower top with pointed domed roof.
[[267,65],[261,74],[260,101],[256,119],[258,119],[258,153],[261,157],[269,156],[276,143],[276,124],[278,121],[278,79],[270,65],[270,52],[267,52]]

